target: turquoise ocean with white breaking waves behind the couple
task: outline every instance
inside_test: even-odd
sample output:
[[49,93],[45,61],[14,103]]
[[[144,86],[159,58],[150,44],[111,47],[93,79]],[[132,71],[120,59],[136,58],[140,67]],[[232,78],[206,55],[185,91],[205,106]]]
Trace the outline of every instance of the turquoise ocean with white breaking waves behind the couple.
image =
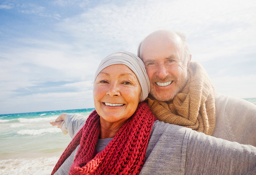
[[[256,98],[245,100],[256,105]],[[93,110],[0,115],[0,174],[50,175],[71,137],[49,122],[62,113],[88,116]]]

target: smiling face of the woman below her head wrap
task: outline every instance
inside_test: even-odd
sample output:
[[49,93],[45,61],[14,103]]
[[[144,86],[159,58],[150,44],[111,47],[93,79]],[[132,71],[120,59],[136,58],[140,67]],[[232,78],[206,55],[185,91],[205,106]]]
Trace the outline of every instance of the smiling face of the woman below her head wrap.
[[123,64],[110,65],[96,78],[94,106],[105,122],[125,122],[135,112],[141,87],[133,71]]

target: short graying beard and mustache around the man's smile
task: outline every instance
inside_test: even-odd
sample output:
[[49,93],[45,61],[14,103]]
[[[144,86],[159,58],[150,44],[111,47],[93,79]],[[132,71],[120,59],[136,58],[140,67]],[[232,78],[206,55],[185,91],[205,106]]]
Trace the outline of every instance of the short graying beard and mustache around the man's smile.
[[[159,77],[154,77],[152,78],[152,81],[151,81],[150,95],[158,101],[162,101],[162,102],[171,101],[178,93],[180,93],[183,90],[183,88],[187,83],[187,79],[188,79],[187,71],[182,71],[181,76],[179,78],[176,78],[173,75],[169,75],[164,79],[161,79]],[[176,83],[175,90],[173,92],[169,92],[168,94],[157,94],[152,84],[155,84],[155,82],[168,82],[168,81],[172,81],[172,83]]]

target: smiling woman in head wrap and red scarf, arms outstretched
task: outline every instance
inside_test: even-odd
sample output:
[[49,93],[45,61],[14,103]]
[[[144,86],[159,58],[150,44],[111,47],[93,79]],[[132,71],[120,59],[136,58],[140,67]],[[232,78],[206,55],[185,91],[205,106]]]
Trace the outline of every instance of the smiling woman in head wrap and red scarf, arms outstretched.
[[143,102],[149,91],[139,57],[104,58],[86,122],[65,113],[51,122],[73,137],[52,174],[256,174],[255,147],[156,120]]

